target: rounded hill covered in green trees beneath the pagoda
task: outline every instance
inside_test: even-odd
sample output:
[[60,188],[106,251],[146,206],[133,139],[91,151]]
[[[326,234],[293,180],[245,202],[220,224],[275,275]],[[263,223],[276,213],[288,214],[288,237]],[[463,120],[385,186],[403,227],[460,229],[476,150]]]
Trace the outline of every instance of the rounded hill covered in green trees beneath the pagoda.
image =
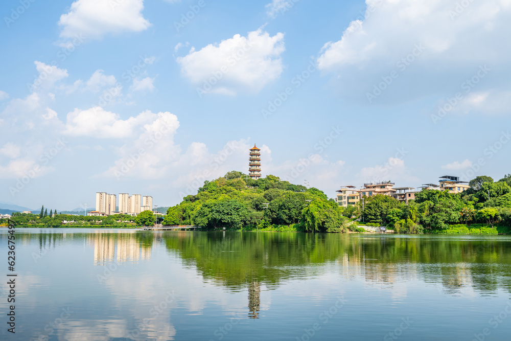
[[196,224],[206,229],[292,225],[297,231],[345,230],[341,209],[322,191],[273,175],[258,180],[244,178],[245,174],[231,171],[214,181],[204,181],[196,195],[184,197],[167,210],[164,224]]

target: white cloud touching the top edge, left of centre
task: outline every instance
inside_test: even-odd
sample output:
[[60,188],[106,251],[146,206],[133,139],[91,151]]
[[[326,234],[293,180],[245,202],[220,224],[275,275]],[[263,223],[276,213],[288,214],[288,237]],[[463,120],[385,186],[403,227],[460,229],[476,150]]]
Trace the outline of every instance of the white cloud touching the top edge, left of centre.
[[144,31],[151,23],[142,15],[143,9],[144,0],[77,0],[60,16],[60,36],[101,38],[108,33]]

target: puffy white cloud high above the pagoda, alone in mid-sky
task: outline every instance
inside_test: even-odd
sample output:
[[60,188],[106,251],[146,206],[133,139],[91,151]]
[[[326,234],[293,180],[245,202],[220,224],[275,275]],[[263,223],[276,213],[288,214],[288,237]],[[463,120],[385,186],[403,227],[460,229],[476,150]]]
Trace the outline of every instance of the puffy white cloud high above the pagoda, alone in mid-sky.
[[199,51],[192,48],[187,56],[178,57],[177,62],[182,75],[201,86],[202,93],[258,93],[280,77],[284,51],[283,33],[271,37],[259,29],[249,32],[247,37],[237,34]]

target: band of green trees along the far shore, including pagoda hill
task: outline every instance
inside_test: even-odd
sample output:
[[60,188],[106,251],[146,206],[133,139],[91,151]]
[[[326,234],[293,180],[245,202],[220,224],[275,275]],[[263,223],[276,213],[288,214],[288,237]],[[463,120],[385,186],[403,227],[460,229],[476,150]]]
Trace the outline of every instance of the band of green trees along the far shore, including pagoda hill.
[[359,202],[343,208],[316,188],[273,175],[254,180],[231,171],[204,181],[197,194],[184,197],[163,218],[151,211],[136,217],[85,217],[48,214],[41,208],[39,215],[13,213],[11,220],[18,228],[134,229],[152,226],[158,219],[166,226],[199,225],[202,231],[375,233],[364,226],[385,226],[398,234],[511,234],[511,175],[496,182],[478,176],[469,184],[457,194],[423,190],[408,204],[379,194],[364,196],[364,207]]

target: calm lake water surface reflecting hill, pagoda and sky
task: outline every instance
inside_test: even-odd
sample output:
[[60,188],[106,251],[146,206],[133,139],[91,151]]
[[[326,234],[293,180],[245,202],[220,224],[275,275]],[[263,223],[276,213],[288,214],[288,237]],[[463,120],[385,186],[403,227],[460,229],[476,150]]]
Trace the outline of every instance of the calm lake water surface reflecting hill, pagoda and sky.
[[510,265],[508,236],[17,229],[0,339],[508,340]]

